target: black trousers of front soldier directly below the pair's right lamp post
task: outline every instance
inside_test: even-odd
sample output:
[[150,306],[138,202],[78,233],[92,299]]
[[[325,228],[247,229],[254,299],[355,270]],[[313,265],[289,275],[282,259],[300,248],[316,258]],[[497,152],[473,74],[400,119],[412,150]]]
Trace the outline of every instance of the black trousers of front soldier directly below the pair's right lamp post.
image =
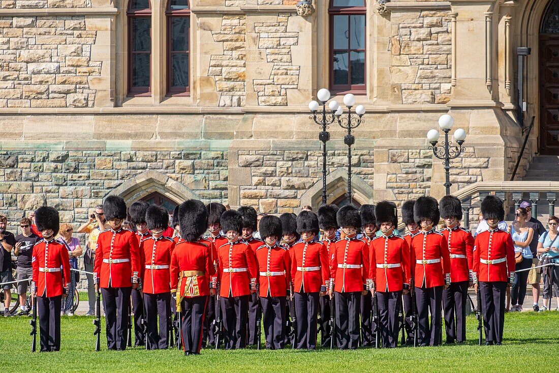
[[334,292],[336,311],[335,341],[340,349],[359,346],[359,313],[361,292]]

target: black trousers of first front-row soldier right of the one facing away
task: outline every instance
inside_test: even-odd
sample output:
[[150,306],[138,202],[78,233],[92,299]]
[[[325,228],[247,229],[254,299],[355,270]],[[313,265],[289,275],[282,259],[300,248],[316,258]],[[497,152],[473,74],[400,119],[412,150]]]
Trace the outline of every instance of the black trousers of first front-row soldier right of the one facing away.
[[219,297],[224,327],[225,349],[247,346],[248,295]]

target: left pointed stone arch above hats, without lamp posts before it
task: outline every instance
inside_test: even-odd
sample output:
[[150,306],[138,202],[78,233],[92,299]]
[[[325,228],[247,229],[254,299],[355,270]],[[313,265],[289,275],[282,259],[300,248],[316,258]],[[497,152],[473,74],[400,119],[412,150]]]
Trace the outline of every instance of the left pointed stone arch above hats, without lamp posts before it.
[[153,170],[142,172],[134,178],[124,181],[108,194],[119,195],[128,205],[153,192],[159,192],[177,204],[191,198],[198,199],[198,196],[183,184]]

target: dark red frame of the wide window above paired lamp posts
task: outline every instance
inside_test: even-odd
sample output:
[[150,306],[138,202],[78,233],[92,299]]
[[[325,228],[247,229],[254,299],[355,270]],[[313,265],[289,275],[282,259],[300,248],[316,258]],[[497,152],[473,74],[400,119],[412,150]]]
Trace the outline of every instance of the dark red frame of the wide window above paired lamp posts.
[[[329,86],[330,91],[335,94],[347,94],[352,93],[356,95],[363,95],[366,93],[367,87],[367,49],[334,49],[334,16],[354,16],[354,15],[364,15],[365,17],[365,32],[364,32],[364,45],[367,45],[367,7],[365,6],[365,0],[363,0],[362,7],[334,7],[334,0],[330,0],[328,7],[329,14]],[[348,25],[348,30],[350,31],[351,24]],[[334,52],[348,52],[348,85],[334,85]],[[351,84],[351,52],[364,52],[365,53],[365,64],[364,64],[364,82],[363,84],[352,85]]]

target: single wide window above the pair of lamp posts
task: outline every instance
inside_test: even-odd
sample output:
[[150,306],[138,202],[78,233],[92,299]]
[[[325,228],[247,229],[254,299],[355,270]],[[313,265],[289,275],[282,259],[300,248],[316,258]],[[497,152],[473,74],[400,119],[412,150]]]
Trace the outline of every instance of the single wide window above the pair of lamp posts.
[[340,93],[364,93],[365,0],[331,0],[330,8],[330,88]]

